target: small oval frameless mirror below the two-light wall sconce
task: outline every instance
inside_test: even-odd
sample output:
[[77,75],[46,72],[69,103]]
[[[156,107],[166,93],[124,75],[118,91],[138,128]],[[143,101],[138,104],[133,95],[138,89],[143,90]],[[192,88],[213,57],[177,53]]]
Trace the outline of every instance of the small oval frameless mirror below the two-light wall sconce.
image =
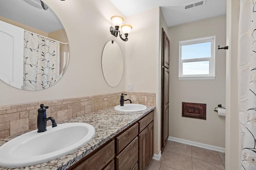
[[109,86],[116,87],[123,76],[122,51],[115,41],[108,41],[102,53],[102,72]]

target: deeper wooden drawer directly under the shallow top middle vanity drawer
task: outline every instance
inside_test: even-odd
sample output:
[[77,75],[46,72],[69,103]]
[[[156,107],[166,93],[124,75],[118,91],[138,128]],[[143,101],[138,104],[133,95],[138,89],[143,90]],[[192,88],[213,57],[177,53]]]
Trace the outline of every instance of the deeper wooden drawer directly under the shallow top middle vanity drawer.
[[138,137],[116,156],[116,169],[132,170],[138,162]]

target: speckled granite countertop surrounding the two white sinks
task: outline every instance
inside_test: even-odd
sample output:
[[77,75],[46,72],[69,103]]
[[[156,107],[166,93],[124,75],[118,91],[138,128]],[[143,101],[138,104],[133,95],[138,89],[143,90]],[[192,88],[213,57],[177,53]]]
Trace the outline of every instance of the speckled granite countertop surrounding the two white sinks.
[[[148,114],[154,108],[155,106],[147,106],[147,109],[144,111],[120,112],[115,111],[114,107],[108,107],[106,109],[102,109],[96,112],[88,113],[86,115],[62,121],[61,123],[88,123],[95,128],[95,136],[86,145],[70,154],[67,154],[60,158],[42,164],[36,164],[24,168],[13,168],[12,170],[65,170],[72,166],[73,164],[75,164],[76,162],[78,162],[79,160],[81,160],[84,156],[88,155],[93,150],[97,149],[98,147],[106,143],[112,137],[126,129],[132,123],[138,121],[141,117]],[[0,146],[22,134],[24,133],[0,139]],[[11,168],[0,167],[0,170],[9,169]]]

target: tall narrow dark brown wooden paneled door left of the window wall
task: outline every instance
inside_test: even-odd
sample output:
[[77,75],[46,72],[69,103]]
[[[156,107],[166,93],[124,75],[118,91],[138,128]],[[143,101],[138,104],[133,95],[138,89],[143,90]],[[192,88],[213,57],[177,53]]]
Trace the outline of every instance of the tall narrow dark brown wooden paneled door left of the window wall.
[[170,41],[162,28],[162,82],[161,82],[161,151],[169,136],[169,46]]

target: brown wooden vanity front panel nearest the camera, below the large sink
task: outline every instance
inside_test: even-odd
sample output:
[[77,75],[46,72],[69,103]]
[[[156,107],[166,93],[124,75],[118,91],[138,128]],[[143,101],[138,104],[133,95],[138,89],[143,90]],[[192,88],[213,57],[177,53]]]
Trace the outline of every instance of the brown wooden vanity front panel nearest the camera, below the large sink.
[[111,141],[106,146],[89,156],[72,170],[99,170],[104,168],[115,156],[115,144]]

